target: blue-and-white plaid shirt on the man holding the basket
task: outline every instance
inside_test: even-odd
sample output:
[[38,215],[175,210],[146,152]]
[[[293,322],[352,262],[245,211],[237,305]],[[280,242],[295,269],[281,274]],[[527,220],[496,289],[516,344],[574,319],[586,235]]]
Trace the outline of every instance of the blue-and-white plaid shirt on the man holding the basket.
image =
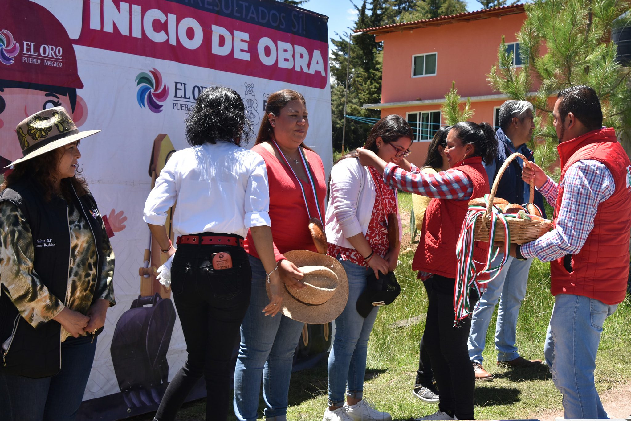
[[[594,228],[598,205],[610,198],[616,188],[610,170],[596,160],[579,160],[572,164],[565,172],[563,186],[555,229],[521,246],[525,258],[536,257],[546,262],[581,251]],[[557,183],[548,177],[539,191],[554,206]]]

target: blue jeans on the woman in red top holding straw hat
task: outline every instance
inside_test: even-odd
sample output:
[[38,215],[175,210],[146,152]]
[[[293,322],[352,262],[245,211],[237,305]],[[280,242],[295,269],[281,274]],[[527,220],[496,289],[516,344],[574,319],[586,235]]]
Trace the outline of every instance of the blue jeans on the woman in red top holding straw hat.
[[292,377],[293,352],[304,323],[284,316],[265,316],[269,304],[265,290],[265,269],[257,258],[249,256],[252,266],[250,307],[241,324],[241,345],[235,367],[234,410],[239,421],[256,421],[261,377],[268,420],[284,421],[287,394]]

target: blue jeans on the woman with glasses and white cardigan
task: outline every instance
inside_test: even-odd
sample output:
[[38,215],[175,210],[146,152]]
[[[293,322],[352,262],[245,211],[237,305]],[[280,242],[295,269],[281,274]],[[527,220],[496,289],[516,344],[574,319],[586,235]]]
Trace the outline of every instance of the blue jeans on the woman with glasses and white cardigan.
[[344,394],[356,399],[363,397],[363,377],[366,373],[366,353],[372,325],[379,307],[363,318],[357,312],[357,298],[366,289],[367,278],[374,271],[338,256],[348,276],[348,301],[335,319],[335,338],[329,353],[329,406],[344,405]]

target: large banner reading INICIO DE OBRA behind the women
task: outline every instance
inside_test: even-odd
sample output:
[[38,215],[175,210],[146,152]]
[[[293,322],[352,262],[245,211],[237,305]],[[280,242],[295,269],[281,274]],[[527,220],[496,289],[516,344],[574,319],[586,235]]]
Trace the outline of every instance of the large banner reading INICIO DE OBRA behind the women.
[[[239,92],[255,133],[271,93],[302,93],[305,143],[331,168],[326,20],[274,0],[0,0],[1,166],[21,157],[15,127],[38,110],[61,105],[80,130],[102,129],[81,142],[80,166],[114,247],[117,304],[80,419],[155,410],[186,360],[142,213],[168,157],[188,146],[184,117],[204,88]],[[305,340],[304,359],[330,342],[328,327],[305,326],[309,335],[323,341]]]

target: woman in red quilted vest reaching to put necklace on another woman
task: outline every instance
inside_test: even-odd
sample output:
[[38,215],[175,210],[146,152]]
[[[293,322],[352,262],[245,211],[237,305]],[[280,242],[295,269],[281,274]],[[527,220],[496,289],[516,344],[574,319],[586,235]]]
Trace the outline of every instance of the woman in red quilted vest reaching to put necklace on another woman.
[[[456,242],[469,200],[489,193],[482,160],[492,160],[496,150],[493,127],[485,122],[466,121],[449,131],[445,148],[449,169],[437,174],[423,174],[405,160],[396,165],[384,162],[372,151],[363,148],[357,151],[362,165],[383,171],[386,183],[433,198],[425,211],[412,269],[419,271],[419,278],[432,283],[423,342],[427,344],[440,390],[440,403],[437,412],[417,420],[473,420],[475,377],[467,350],[471,319],[468,317],[454,326]],[[399,166],[410,166],[410,171]],[[476,249],[476,261],[485,257],[482,247]]]

